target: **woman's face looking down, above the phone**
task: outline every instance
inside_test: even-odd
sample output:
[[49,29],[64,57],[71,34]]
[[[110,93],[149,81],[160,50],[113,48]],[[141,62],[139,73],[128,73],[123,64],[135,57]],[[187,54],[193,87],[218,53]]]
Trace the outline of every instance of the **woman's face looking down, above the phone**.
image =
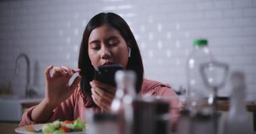
[[94,68],[106,64],[121,64],[123,68],[127,66],[128,46],[119,31],[108,25],[92,30],[88,54]]

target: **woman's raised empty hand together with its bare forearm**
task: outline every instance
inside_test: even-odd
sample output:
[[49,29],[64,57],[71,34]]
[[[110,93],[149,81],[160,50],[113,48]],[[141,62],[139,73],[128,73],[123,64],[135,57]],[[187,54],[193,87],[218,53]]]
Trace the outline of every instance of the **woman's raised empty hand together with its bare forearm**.
[[[53,73],[50,71],[53,69]],[[66,100],[75,90],[81,77],[77,76],[71,86],[69,79],[75,72],[80,72],[79,69],[67,68],[67,66],[53,67],[48,66],[44,71],[46,89],[45,97],[31,113],[31,119],[37,123],[44,123],[51,117],[53,109],[61,102]]]

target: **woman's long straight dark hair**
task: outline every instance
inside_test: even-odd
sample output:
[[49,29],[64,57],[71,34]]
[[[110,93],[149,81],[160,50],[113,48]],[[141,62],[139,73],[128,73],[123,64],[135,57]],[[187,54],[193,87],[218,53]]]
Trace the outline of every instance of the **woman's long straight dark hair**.
[[138,93],[141,90],[144,70],[139,47],[137,46],[133,33],[131,32],[129,25],[119,15],[115,13],[99,13],[92,17],[88,22],[80,46],[78,68],[81,69],[80,76],[82,76],[82,80],[80,86],[84,96],[91,97],[92,92],[89,82],[93,80],[94,76],[94,66],[92,66],[92,62],[88,55],[88,38],[93,29],[100,27],[103,24],[110,25],[117,29],[126,44],[131,48],[131,57],[129,57],[126,69],[134,70],[136,72],[136,92]]

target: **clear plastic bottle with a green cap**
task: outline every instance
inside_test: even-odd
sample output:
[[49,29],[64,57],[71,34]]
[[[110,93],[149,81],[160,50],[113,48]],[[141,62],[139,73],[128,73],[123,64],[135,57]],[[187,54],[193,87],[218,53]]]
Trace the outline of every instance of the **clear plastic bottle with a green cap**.
[[203,78],[200,74],[200,65],[205,62],[214,60],[207,45],[207,40],[195,40],[193,51],[187,59],[187,105],[188,107],[200,107],[200,104],[210,94],[210,89],[203,83]]

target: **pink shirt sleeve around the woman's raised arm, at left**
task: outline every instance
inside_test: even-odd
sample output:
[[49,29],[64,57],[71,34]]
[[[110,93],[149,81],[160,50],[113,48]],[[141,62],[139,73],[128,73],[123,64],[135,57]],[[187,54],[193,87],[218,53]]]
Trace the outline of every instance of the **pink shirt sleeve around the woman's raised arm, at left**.
[[[76,89],[75,92],[73,92],[73,94],[67,98],[67,100],[57,106],[46,123],[53,122],[57,119],[61,121],[73,120],[73,109],[75,105],[75,95],[77,95],[77,92],[78,89]],[[30,107],[25,111],[25,113],[22,115],[22,120],[20,121],[19,126],[37,124],[37,122],[33,121],[31,118],[32,111],[35,107],[36,106]]]

